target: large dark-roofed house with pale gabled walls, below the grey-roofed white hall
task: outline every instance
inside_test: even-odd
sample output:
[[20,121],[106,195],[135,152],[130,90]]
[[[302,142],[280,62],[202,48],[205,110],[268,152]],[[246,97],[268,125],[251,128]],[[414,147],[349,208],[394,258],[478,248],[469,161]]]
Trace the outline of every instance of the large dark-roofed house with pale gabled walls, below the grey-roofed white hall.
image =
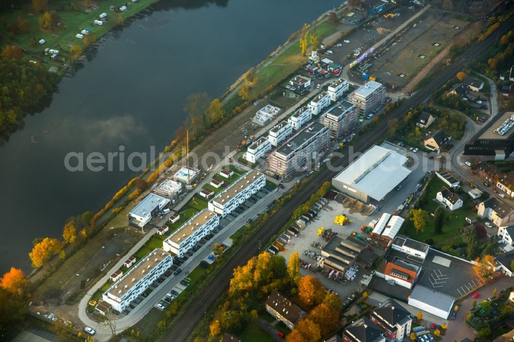
[[385,330],[388,340],[402,341],[409,338],[412,325],[410,312],[396,301],[391,300],[389,306],[374,309],[370,318],[373,323]]

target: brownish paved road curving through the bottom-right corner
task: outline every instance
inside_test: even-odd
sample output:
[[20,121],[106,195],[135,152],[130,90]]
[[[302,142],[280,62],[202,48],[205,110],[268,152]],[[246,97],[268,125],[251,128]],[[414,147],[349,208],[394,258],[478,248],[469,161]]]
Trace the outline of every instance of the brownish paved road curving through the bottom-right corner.
[[[491,282],[489,285],[479,291],[480,297],[476,300],[476,302],[480,303],[481,300],[491,297],[494,289],[498,289],[498,292],[500,292],[509,286],[512,286],[512,278],[505,276],[497,278],[497,280]],[[448,323],[448,329],[446,330],[446,335],[443,337],[443,340],[449,342],[454,340],[460,341],[464,337],[468,337],[469,339],[473,340],[473,338],[476,336],[476,331],[470,328],[464,321],[466,319],[467,313],[471,310],[472,303],[473,298],[471,298],[471,296],[466,297],[466,299],[461,302],[460,308],[457,312],[457,317],[455,320],[450,320]]]

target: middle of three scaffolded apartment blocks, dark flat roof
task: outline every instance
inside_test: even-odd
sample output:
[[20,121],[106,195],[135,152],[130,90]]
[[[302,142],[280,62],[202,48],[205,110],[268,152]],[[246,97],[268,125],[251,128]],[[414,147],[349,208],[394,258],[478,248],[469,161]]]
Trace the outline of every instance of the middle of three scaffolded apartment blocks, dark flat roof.
[[321,123],[330,129],[333,138],[351,132],[359,119],[359,109],[353,103],[343,100],[329,109],[321,119]]

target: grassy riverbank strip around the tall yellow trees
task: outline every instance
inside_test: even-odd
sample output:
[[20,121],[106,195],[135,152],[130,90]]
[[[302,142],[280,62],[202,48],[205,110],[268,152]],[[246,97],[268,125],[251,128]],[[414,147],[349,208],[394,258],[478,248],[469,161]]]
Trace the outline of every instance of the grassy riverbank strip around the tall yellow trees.
[[[322,22],[316,27],[318,40],[322,42],[327,36],[335,33],[338,26],[338,24],[331,24],[327,21]],[[310,35],[307,37],[307,42],[310,42]],[[255,97],[264,92],[270,84],[279,84],[305,63],[307,58],[302,56],[301,52],[300,44],[296,42],[284,50],[272,63],[259,71],[257,82],[250,88],[251,96]]]

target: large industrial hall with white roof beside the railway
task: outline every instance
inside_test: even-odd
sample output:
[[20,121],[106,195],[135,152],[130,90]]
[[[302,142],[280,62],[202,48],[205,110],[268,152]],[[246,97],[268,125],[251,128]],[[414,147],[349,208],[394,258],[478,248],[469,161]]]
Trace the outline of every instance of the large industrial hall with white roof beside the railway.
[[411,173],[407,161],[396,151],[375,145],[334,177],[332,185],[366,203],[370,198],[381,201]]

